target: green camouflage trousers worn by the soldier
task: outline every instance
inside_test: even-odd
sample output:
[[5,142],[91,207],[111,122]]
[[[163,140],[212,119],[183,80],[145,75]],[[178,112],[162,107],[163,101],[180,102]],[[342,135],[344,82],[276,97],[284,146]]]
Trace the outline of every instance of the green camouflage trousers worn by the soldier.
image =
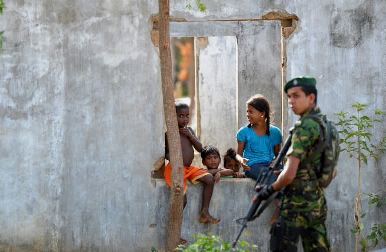
[[330,252],[324,221],[327,205],[320,187],[286,189],[280,206],[280,219],[286,224],[283,245],[286,252],[296,252],[299,236],[304,252]]

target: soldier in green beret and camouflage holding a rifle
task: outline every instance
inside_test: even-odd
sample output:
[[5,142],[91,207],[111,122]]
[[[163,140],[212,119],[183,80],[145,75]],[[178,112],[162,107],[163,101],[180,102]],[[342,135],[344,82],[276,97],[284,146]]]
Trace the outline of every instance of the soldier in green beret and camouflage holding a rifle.
[[[284,91],[288,95],[289,107],[301,118],[306,115],[321,116],[320,109],[316,106],[315,85],[316,80],[313,77],[303,76],[285,84]],[[257,187],[260,189],[260,199],[263,200],[285,187],[280,217],[271,229],[272,251],[297,251],[299,236],[305,252],[331,251],[324,224],[327,217],[324,191],[315,180],[310,179],[307,168],[320,170],[321,155],[316,155],[306,167],[300,166],[315,150],[320,138],[320,127],[312,119],[297,121],[284,170],[273,184]]]

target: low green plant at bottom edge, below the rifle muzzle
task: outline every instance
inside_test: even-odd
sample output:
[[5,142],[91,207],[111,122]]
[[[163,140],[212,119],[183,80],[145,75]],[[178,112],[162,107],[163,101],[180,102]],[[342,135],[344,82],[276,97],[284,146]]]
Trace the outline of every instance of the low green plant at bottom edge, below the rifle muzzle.
[[191,243],[187,248],[184,245],[179,245],[175,250],[183,252],[226,252],[226,251],[235,251],[235,252],[250,252],[257,251],[256,245],[249,245],[246,241],[239,241],[239,247],[232,248],[231,244],[228,241],[225,241],[219,236],[212,234],[198,234],[191,235],[196,238],[194,243]]

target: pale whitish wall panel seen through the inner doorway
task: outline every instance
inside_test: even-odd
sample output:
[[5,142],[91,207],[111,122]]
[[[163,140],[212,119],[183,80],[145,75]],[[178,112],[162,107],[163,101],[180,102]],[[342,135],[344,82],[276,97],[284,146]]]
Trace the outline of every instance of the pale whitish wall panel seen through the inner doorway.
[[216,146],[223,155],[228,148],[236,148],[237,41],[231,36],[203,40],[207,45],[198,50],[200,140]]

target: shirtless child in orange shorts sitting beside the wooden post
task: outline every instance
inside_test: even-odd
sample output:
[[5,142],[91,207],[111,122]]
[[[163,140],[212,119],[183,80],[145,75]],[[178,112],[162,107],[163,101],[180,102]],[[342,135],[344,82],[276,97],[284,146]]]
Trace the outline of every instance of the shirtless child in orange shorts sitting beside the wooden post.
[[[214,178],[212,174],[206,172],[203,168],[197,168],[191,166],[191,163],[194,158],[195,148],[198,152],[202,151],[202,145],[199,139],[196,137],[193,129],[190,126],[187,126],[189,123],[189,105],[182,101],[175,101],[175,109],[177,112],[177,121],[179,127],[179,137],[181,139],[181,148],[182,148],[182,159],[183,159],[183,168],[184,168],[184,197],[183,197],[183,207],[185,208],[187,204],[186,190],[187,183],[186,179],[189,179],[193,184],[202,182],[204,184],[203,190],[203,199],[201,205],[201,214],[199,221],[201,223],[212,223],[215,224],[220,221],[219,218],[213,218],[209,214],[209,203],[212,198]],[[167,132],[165,133],[165,158],[170,160],[169,145],[166,137]],[[167,164],[165,168],[165,180],[166,183],[171,186],[171,164]],[[181,241],[182,242],[182,241]]]

